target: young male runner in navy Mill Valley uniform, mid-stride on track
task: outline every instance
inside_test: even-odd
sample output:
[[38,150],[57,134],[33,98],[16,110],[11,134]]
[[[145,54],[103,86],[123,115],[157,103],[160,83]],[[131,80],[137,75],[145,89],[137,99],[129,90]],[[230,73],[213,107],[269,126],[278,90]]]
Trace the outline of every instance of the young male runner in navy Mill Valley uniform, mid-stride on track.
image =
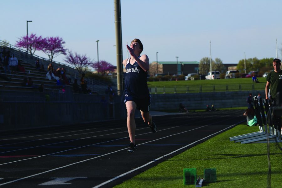
[[143,44],[139,39],[133,39],[130,47],[126,45],[130,58],[123,60],[125,66],[125,106],[127,109],[127,128],[130,138],[128,153],[137,149],[135,144],[135,119],[134,114],[136,108],[140,110],[145,123],[148,123],[152,132],[156,132],[157,128],[152,121],[150,115],[151,96],[147,86],[147,72],[149,70],[149,58],[147,55],[140,56],[143,51]]

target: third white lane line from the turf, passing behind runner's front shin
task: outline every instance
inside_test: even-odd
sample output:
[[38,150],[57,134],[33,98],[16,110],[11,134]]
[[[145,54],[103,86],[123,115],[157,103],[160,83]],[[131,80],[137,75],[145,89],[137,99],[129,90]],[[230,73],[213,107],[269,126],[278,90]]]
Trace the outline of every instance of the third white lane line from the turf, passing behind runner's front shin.
[[[175,127],[171,127],[171,128],[176,128],[176,127],[180,127],[180,126],[175,126]],[[171,129],[171,128],[166,128],[166,129],[158,130],[158,132],[164,131],[164,130],[168,130],[168,129]],[[144,128],[141,128],[141,129],[144,129]],[[138,130],[140,130],[140,129],[138,129]],[[143,134],[149,134],[149,133],[152,133],[152,132],[137,134],[137,135],[135,135],[135,136],[139,136],[139,135],[143,135]],[[46,154],[46,155],[40,155],[40,156],[36,156],[36,157],[31,157],[31,158],[28,158],[28,159],[21,159],[21,160],[17,160],[17,161],[8,162],[8,163],[2,163],[2,164],[0,164],[0,165],[7,165],[7,164],[10,164],[10,163],[15,163],[15,162],[24,161],[24,160],[29,160],[29,159],[35,159],[35,158],[44,157],[44,156],[47,156],[47,155],[58,154],[58,153],[62,153],[62,152],[66,152],[66,151],[70,151],[70,150],[74,150],[74,149],[80,149],[80,148],[85,148],[85,147],[88,147],[88,146],[93,146],[93,145],[98,145],[98,144],[104,144],[104,143],[108,143],[108,142],[112,142],[112,141],[116,141],[116,140],[121,140],[121,139],[128,138],[128,137],[129,137],[129,136],[123,137],[123,138],[114,139],[114,140],[109,140],[109,141],[106,141],[106,142],[100,142],[100,143],[96,143],[96,144],[85,145],[85,146],[81,146],[81,147],[78,147],[78,148],[67,149],[67,150],[64,150],[64,151],[58,151],[58,152],[51,153],[51,154]],[[139,145],[140,145],[140,144],[139,144]]]

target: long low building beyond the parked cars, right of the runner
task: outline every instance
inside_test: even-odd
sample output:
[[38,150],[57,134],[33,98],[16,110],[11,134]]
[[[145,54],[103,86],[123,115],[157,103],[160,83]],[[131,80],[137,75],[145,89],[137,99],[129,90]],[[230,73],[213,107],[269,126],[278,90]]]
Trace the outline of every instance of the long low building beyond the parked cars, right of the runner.
[[[177,67],[177,68],[176,68]],[[188,75],[198,73],[198,61],[158,61],[158,73],[166,75]],[[149,74],[154,76],[157,73],[157,62],[150,64]]]

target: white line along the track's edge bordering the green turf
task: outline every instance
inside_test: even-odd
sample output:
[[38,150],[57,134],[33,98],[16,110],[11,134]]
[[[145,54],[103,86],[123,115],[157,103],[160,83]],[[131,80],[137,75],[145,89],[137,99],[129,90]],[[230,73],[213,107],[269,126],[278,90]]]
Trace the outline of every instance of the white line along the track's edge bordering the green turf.
[[[245,120],[244,120],[244,121],[245,121]],[[242,122],[243,122],[243,121],[241,121],[241,122],[239,122],[239,123],[242,123]],[[184,148],[186,148],[186,147],[188,147],[188,146],[191,146],[192,144],[195,144],[195,143],[197,143],[197,142],[199,142],[199,141],[201,141],[201,140],[204,140],[204,139],[206,139],[206,138],[209,138],[209,137],[211,137],[212,135],[215,135],[215,134],[217,134],[217,133],[220,133],[220,132],[222,132],[222,131],[224,131],[224,130],[230,128],[230,127],[233,127],[233,126],[235,126],[235,125],[237,125],[237,124],[239,124],[239,123],[233,124],[233,125],[231,125],[231,126],[229,126],[229,127],[227,127],[227,128],[224,128],[224,129],[222,129],[222,130],[220,130],[220,131],[218,131],[218,132],[216,132],[216,133],[210,134],[209,136],[206,136],[205,138],[201,138],[201,139],[199,139],[199,140],[197,140],[197,141],[195,141],[195,142],[192,142],[191,144],[188,144],[188,145],[186,145],[186,146],[184,146],[184,147],[182,147],[182,148],[176,149],[175,151],[172,151],[172,152],[170,152],[169,154],[165,154],[165,155],[163,155],[163,156],[161,156],[161,157],[159,157],[159,158],[157,158],[157,159],[154,159],[154,160],[150,161],[149,163],[146,163],[146,164],[144,164],[144,165],[142,165],[142,166],[139,166],[139,167],[137,167],[137,168],[135,168],[135,169],[133,169],[133,170],[130,170],[130,171],[125,172],[125,173],[123,173],[123,174],[121,174],[121,175],[118,175],[118,176],[116,176],[116,177],[114,177],[114,178],[112,178],[112,179],[110,179],[110,180],[107,180],[107,181],[105,181],[105,182],[103,182],[103,183],[101,183],[101,184],[99,184],[99,185],[94,186],[93,188],[98,188],[98,187],[101,187],[101,186],[103,186],[103,185],[106,185],[107,183],[110,183],[110,182],[112,182],[112,181],[114,181],[114,180],[116,180],[116,179],[118,179],[118,178],[120,178],[120,177],[123,177],[123,176],[128,175],[128,174],[130,174],[130,173],[132,173],[132,172],[134,172],[134,171],[136,171],[136,170],[139,170],[139,169],[141,169],[141,168],[143,168],[143,167],[145,167],[145,166],[148,166],[148,165],[150,165],[151,163],[154,163],[154,162],[158,161],[159,159],[162,159],[162,158],[164,158],[164,157],[166,157],[166,156],[168,156],[168,155],[170,155],[170,154],[173,154],[173,153],[175,153],[175,152],[177,152],[177,151],[179,151],[179,150],[181,150],[181,149],[184,149]]]

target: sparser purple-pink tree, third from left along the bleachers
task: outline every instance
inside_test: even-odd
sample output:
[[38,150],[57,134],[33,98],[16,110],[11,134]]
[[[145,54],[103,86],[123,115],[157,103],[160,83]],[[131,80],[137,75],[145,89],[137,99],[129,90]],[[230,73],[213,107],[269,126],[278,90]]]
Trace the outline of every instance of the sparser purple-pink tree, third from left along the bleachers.
[[79,55],[76,52],[73,54],[71,51],[68,51],[64,61],[76,67],[76,70],[80,74],[85,72],[89,65],[93,64],[90,58],[86,57],[86,55]]

